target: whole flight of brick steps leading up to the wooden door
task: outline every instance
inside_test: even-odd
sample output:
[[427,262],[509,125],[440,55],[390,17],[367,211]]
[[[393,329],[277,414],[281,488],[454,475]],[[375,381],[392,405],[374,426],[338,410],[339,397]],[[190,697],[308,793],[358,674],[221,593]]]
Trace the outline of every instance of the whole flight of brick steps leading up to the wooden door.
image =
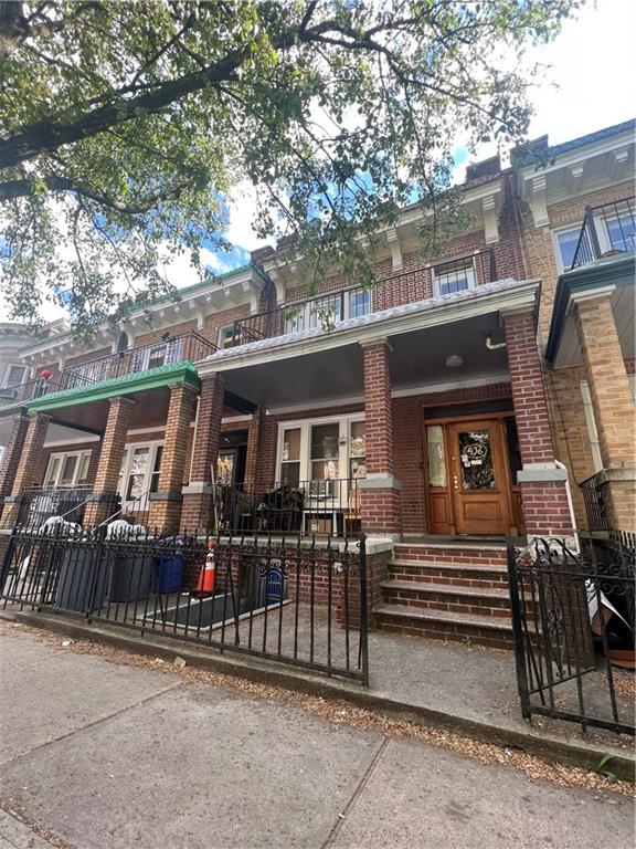
[[374,610],[394,633],[511,649],[506,548],[475,542],[400,543]]

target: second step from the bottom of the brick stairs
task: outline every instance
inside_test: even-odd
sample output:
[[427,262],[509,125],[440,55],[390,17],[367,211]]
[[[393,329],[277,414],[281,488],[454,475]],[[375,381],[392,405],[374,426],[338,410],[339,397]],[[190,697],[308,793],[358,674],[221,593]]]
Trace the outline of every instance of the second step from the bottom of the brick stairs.
[[477,616],[510,617],[510,599],[505,589],[462,587],[413,580],[382,581],[382,600],[428,610],[447,610]]

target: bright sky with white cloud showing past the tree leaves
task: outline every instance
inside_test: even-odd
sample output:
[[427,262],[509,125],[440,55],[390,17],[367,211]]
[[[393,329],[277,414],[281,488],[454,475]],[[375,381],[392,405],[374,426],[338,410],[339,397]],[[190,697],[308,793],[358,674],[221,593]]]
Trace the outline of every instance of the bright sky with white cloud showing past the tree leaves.
[[[636,0],[589,0],[564,23],[554,42],[534,51],[534,57],[549,67],[544,80],[538,81],[531,93],[536,114],[530,138],[548,134],[550,144],[554,145],[633,118],[636,113],[636,101],[630,96],[636,80],[635,34]],[[494,153],[496,150],[484,147],[469,158],[458,139],[455,181],[463,181],[469,161]],[[219,253],[203,247],[203,261],[214,273],[244,264],[250,251],[265,243],[252,229],[254,211],[253,192],[248,186],[241,187],[230,206],[226,233],[234,250]],[[178,287],[198,282],[186,255],[178,256],[165,272]],[[0,317],[3,312],[0,303]]]

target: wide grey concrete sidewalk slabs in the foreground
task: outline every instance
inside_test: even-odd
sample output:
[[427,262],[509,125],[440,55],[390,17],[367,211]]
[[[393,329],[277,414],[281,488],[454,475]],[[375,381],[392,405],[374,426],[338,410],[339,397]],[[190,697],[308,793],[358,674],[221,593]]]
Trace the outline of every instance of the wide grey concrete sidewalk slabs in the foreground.
[[613,793],[3,630],[0,800],[30,825],[0,849],[633,846]]

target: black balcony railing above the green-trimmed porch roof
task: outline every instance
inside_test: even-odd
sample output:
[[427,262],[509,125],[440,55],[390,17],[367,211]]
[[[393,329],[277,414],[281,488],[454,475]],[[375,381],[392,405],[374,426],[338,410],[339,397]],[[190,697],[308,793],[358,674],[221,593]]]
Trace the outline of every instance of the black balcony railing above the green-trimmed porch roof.
[[181,336],[166,334],[163,338],[147,345],[67,366],[61,375],[61,388],[73,389],[87,384],[98,384],[102,380],[148,371],[184,360],[195,363],[215,350],[216,346],[198,333],[192,332]]

